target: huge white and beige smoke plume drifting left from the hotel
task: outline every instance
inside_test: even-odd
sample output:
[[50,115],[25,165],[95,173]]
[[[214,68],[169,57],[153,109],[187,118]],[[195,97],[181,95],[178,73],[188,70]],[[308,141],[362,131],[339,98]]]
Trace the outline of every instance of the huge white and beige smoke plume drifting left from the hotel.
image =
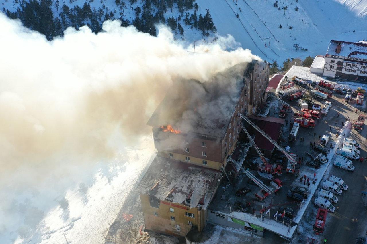
[[[47,41],[0,13],[3,223],[34,228],[41,218],[12,218],[20,211],[18,196],[50,207],[47,201],[82,182],[93,162],[113,158],[116,148],[150,133],[146,122],[175,80],[208,81],[259,59],[247,49],[225,51],[233,45],[232,37],[219,37],[197,44],[193,53],[165,27],[152,37],[119,21],[106,21],[99,34],[69,28]],[[0,226],[0,236],[8,231]]]

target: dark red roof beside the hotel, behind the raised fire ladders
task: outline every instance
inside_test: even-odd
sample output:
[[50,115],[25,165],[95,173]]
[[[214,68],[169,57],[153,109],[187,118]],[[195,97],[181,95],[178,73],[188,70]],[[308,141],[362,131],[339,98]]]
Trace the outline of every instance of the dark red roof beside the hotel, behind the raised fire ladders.
[[[254,122],[260,129],[262,129],[266,134],[268,134],[273,140],[278,141],[281,132],[284,127],[285,119],[275,118],[275,117],[249,117],[252,122]],[[273,145],[268,139],[266,139],[257,130],[250,129],[251,135],[255,135],[254,141],[258,148],[261,150],[262,154],[266,158],[270,158],[273,154],[275,145]],[[255,148],[248,148],[248,153],[258,155]]]

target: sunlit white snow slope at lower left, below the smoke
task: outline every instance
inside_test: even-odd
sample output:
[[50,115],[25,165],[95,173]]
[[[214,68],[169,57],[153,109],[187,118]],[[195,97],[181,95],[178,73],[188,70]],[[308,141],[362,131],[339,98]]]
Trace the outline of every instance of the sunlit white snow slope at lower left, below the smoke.
[[[14,200],[17,212],[13,213],[18,221],[1,224],[0,243],[104,242],[106,228],[116,219],[128,193],[134,191],[135,182],[155,156],[154,151],[152,136],[145,136],[137,147],[122,147],[112,162],[91,164],[94,173],[82,181],[69,179],[76,184],[66,189],[65,194],[32,188],[39,193],[19,195],[19,202]],[[73,170],[80,174],[88,171],[77,166]],[[55,199],[53,205],[40,200],[44,194]],[[23,214],[26,215],[24,222]],[[37,219],[39,215],[44,217]]]

